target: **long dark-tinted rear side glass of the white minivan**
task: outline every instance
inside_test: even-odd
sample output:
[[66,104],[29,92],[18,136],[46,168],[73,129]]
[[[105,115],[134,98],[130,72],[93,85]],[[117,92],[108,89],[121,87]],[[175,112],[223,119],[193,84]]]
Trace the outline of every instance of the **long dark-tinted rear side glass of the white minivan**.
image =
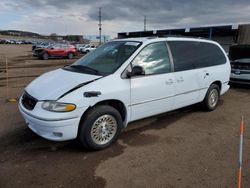
[[226,63],[221,49],[214,44],[194,41],[168,42],[174,61],[175,71],[210,67]]

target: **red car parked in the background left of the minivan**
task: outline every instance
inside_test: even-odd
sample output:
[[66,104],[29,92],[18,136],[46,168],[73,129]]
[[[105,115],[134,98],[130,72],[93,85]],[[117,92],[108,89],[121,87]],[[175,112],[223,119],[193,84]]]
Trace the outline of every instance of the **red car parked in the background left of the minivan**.
[[39,57],[41,59],[67,57],[72,59],[77,53],[77,49],[73,45],[68,44],[55,44],[47,48],[38,48],[34,50],[33,56]]

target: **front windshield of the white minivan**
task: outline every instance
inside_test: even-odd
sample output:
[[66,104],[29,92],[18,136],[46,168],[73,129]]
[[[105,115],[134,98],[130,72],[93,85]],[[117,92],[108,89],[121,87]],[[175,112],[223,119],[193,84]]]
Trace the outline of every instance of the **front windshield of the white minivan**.
[[98,47],[66,70],[108,75],[115,72],[140,46],[140,42],[113,41]]

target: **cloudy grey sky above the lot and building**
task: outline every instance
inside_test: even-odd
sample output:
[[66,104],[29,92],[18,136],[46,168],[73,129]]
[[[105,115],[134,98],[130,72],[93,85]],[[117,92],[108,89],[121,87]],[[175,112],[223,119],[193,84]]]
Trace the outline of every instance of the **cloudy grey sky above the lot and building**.
[[0,30],[49,35],[103,34],[250,23],[249,0],[1,0]]

